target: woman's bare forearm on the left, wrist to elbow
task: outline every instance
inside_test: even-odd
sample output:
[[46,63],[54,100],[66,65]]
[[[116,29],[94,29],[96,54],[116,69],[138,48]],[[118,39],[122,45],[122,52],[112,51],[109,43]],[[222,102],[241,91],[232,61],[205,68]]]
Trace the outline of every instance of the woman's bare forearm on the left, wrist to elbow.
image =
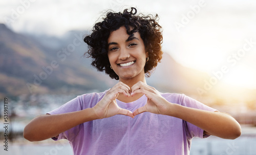
[[66,114],[39,116],[24,128],[24,138],[29,141],[46,140],[76,125],[95,119],[97,117],[92,108]]

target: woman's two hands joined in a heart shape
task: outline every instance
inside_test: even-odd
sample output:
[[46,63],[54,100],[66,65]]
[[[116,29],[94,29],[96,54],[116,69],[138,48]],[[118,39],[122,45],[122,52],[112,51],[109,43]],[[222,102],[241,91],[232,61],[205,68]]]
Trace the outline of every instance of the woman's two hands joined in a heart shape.
[[[116,98],[120,93],[126,97],[134,96],[135,94],[145,94],[147,103],[132,113],[130,110],[120,108],[117,105]],[[134,116],[144,112],[167,115],[170,112],[170,105],[172,104],[164,99],[154,87],[149,86],[146,83],[140,81],[133,85],[130,90],[129,86],[122,82],[118,82],[106,92],[105,96],[93,107],[93,109],[99,119],[108,118],[117,114],[134,118]]]

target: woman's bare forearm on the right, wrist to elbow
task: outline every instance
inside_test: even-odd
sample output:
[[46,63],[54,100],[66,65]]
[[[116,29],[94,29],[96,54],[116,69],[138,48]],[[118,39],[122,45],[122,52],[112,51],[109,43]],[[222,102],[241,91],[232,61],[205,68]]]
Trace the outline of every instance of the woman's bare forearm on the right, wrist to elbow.
[[174,116],[194,124],[210,135],[224,139],[236,139],[241,135],[240,124],[231,116],[219,112],[185,107],[171,104],[169,116]]

